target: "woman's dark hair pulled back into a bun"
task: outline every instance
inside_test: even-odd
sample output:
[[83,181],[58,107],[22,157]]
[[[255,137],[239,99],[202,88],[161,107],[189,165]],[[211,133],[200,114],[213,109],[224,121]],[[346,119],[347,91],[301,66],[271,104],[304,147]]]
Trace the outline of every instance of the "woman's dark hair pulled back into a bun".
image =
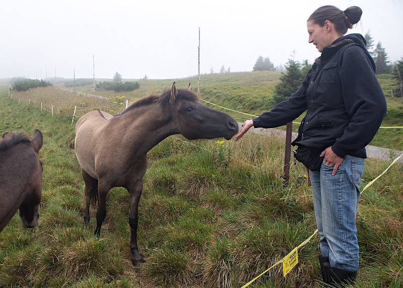
[[345,11],[337,7],[326,5],[319,7],[309,16],[308,20],[313,20],[313,23],[323,26],[326,20],[334,24],[337,32],[346,34],[348,29],[353,28],[357,24],[362,15],[362,10],[358,6],[352,6]]

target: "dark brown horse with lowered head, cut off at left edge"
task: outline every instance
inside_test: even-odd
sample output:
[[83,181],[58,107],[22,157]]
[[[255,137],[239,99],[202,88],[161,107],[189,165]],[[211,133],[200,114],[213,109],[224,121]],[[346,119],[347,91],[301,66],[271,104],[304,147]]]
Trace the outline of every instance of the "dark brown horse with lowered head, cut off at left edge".
[[23,133],[4,133],[0,139],[0,232],[20,209],[24,227],[38,225],[42,197],[42,162],[39,149],[42,133],[35,130],[32,141]]

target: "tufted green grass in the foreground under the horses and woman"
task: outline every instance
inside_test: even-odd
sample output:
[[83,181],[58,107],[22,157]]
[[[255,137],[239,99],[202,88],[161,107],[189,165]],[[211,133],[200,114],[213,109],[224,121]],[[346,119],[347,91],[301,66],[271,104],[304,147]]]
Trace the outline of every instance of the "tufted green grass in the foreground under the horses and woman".
[[[128,194],[108,194],[101,238],[83,227],[84,182],[72,149],[74,126],[61,114],[11,101],[0,91],[0,127],[44,135],[39,226],[16,215],[0,233],[0,287],[239,287],[284,257],[316,229],[305,170],[281,180],[283,140],[246,135],[224,145],[169,137],[149,152],[139,208],[139,248],[130,263]],[[183,138],[182,138],[183,139]],[[207,149],[207,151],[205,150]],[[389,163],[366,160],[363,186]],[[361,196],[358,287],[403,285],[402,165]],[[320,287],[318,237],[283,278],[280,265],[250,287]]]

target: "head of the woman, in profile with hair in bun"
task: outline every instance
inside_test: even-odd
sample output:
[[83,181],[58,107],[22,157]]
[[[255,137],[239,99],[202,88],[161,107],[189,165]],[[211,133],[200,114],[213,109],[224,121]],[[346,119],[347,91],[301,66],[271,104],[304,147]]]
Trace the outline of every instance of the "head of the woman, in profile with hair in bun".
[[315,10],[307,21],[309,43],[313,43],[319,52],[337,38],[346,34],[349,28],[360,21],[362,10],[352,6],[345,11],[334,6],[322,6]]

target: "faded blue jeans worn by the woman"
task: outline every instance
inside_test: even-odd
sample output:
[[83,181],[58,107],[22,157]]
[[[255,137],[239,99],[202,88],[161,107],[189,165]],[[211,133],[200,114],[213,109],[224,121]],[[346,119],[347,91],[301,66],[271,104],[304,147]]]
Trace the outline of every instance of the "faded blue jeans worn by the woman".
[[356,213],[364,159],[347,155],[336,174],[322,163],[310,171],[316,224],[322,256],[330,266],[351,272],[358,270]]

